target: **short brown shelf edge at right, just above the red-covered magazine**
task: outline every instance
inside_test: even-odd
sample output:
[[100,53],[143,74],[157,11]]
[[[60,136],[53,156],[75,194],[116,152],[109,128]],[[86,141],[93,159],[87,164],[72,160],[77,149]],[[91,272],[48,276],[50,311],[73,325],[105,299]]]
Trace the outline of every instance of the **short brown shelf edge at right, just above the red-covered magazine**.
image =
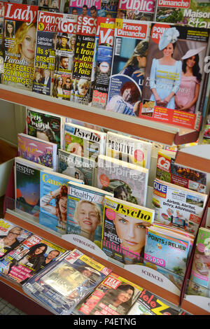
[[190,167],[201,172],[210,173],[210,160],[200,158],[197,155],[191,155],[179,151],[176,155],[175,163],[177,165],[183,165],[185,167]]

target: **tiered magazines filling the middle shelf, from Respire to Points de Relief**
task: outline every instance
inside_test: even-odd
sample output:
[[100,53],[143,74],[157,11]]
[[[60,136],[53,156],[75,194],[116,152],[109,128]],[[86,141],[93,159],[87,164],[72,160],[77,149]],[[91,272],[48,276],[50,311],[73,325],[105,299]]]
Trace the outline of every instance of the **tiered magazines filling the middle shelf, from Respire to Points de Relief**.
[[[73,244],[91,241],[104,259],[152,266],[181,290],[207,204],[207,174],[177,165],[174,151],[160,149],[149,188],[151,143],[65,120],[27,109],[15,158],[16,211]],[[46,140],[53,128],[62,148]],[[205,285],[207,278],[208,271]]]

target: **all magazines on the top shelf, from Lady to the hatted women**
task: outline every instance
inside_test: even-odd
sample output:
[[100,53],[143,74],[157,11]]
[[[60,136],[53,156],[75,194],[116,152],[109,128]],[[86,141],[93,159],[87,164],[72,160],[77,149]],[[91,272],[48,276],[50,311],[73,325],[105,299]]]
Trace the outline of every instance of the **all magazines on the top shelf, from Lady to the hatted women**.
[[201,129],[209,1],[97,1],[85,10],[71,0],[68,10],[57,3],[60,12],[42,2],[1,2],[3,85]]

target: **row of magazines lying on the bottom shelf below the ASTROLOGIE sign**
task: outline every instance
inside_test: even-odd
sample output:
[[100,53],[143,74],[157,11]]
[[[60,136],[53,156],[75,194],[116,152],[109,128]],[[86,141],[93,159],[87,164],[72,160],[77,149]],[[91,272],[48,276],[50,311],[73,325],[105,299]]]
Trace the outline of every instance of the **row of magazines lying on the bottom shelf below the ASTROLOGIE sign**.
[[0,220],[1,276],[57,315],[185,315],[78,249]]

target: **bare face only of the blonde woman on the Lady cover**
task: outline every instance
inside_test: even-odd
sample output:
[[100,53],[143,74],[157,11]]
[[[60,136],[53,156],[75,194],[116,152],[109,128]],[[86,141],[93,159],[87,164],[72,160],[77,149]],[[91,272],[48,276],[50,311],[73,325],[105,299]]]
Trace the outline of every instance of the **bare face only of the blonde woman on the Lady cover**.
[[30,27],[22,41],[22,57],[31,61],[34,59],[35,54],[35,44],[36,44],[36,29],[35,27]]

